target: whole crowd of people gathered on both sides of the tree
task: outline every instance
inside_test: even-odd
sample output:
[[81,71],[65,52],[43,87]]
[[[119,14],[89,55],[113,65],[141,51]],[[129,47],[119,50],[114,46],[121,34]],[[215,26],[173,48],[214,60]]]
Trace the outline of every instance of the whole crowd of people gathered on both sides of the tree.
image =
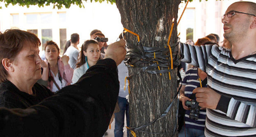
[[[185,122],[179,137],[256,135],[256,3],[231,4],[222,23],[221,46],[213,33],[180,44],[185,118],[179,121]],[[115,116],[114,135],[123,137],[125,41],[107,45],[100,30],[90,35],[79,50],[73,33],[62,57],[48,41],[41,58],[33,33],[0,33],[0,136],[101,137]]]

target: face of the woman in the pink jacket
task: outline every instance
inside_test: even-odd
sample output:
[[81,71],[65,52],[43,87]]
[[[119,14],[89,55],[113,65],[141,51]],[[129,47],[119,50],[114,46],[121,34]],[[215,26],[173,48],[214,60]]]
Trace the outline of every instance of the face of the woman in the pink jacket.
[[57,60],[59,57],[58,49],[53,45],[46,45],[46,59],[49,60]]

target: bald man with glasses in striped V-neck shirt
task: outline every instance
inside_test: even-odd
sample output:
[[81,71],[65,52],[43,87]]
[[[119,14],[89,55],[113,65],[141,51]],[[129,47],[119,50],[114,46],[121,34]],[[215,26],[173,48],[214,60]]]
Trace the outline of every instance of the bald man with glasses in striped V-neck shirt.
[[[206,110],[206,137],[256,136],[256,3],[235,2],[222,17],[231,49],[181,43],[183,60],[207,73],[208,88],[196,88]],[[188,53],[188,54],[187,54]]]

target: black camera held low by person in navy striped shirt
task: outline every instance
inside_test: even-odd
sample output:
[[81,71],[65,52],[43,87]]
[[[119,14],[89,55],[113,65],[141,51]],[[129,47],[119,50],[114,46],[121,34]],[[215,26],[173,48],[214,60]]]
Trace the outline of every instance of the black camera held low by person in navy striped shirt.
[[199,103],[192,99],[191,101],[186,101],[185,105],[190,108],[190,118],[191,119],[198,119],[199,117],[199,112],[201,106],[199,106]]

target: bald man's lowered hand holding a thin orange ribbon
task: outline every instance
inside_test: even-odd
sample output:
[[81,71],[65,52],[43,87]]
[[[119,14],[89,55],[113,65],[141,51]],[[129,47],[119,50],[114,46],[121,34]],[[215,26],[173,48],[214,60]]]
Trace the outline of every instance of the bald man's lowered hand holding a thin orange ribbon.
[[193,93],[196,94],[197,102],[202,108],[216,109],[221,97],[211,88],[196,88]]

